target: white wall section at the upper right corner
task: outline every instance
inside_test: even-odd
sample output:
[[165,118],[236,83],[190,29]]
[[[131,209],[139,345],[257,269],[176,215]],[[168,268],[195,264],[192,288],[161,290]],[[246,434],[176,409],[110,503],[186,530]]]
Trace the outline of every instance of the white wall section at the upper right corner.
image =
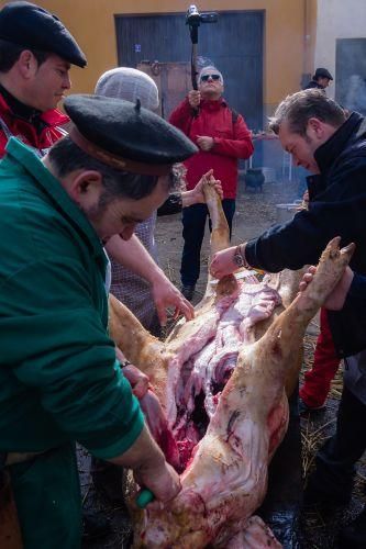
[[[314,68],[325,67],[336,79],[336,38],[366,37],[366,0],[318,0]],[[334,97],[334,86],[328,88]]]

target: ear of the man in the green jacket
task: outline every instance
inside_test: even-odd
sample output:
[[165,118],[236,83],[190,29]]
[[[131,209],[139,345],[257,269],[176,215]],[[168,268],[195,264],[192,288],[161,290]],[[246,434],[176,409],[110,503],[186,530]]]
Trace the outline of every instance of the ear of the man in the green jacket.
[[78,171],[68,186],[68,193],[80,206],[88,208],[98,204],[103,192],[103,178],[99,171]]

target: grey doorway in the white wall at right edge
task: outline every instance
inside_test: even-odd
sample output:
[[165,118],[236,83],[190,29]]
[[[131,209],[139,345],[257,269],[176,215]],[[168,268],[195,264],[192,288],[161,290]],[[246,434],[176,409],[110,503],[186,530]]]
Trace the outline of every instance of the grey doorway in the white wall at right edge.
[[336,41],[335,77],[336,101],[366,114],[366,38]]

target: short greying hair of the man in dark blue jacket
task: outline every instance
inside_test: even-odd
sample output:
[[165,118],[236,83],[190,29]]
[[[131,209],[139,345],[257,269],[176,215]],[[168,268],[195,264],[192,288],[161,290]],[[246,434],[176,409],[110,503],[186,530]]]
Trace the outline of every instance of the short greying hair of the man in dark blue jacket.
[[304,136],[308,121],[312,117],[334,127],[340,127],[346,120],[342,107],[328,98],[323,90],[309,89],[288,96],[269,119],[269,128],[278,134],[281,123],[286,120],[291,132]]

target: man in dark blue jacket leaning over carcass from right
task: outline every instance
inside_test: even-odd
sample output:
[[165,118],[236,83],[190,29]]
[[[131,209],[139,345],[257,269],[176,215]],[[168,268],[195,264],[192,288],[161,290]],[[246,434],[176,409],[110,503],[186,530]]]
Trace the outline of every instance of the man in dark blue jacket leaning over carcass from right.
[[[313,173],[308,177],[309,210],[240,247],[218,253],[212,274],[223,277],[241,261],[269,272],[317,264],[334,236],[342,237],[342,246],[356,243],[351,268],[366,274],[365,119],[356,112],[346,119],[343,109],[321,90],[304,90],[280,103],[270,125],[293,163]],[[346,302],[342,311],[330,313],[341,357],[366,348],[366,315],[355,318],[353,307]]]

